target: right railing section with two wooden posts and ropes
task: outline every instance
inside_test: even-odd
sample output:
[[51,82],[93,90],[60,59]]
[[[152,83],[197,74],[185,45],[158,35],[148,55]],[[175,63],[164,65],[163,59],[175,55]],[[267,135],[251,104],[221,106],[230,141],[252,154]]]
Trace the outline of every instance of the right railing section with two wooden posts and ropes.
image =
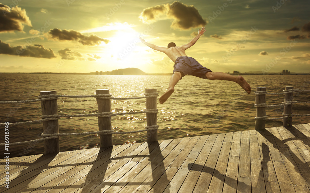
[[[291,88],[291,89],[289,89]],[[293,93],[294,92],[310,92],[310,90],[299,90],[299,89],[293,89],[293,87],[286,87],[285,90],[283,90],[283,92],[279,92],[279,93],[269,93],[268,91],[266,91],[266,87],[257,87],[257,91],[255,92],[256,95],[256,99],[255,99],[255,107],[257,108],[257,116],[254,118],[256,120],[255,122],[255,129],[256,130],[260,130],[265,128],[265,122],[267,120],[279,120],[282,119],[283,122],[283,126],[287,126],[287,125],[291,125],[291,121],[292,121],[292,117],[296,116],[296,117],[304,117],[304,116],[310,116],[310,114],[304,114],[304,115],[300,115],[300,114],[292,114],[292,105],[294,103],[298,103],[298,104],[308,104],[310,103],[309,101],[292,101],[293,99]],[[266,103],[266,95],[285,95],[285,101],[282,102],[282,104],[278,104],[278,105],[268,105]],[[278,118],[268,118],[268,116],[266,115],[266,110],[265,108],[269,108],[269,107],[284,107],[283,110],[283,117],[278,117]]]

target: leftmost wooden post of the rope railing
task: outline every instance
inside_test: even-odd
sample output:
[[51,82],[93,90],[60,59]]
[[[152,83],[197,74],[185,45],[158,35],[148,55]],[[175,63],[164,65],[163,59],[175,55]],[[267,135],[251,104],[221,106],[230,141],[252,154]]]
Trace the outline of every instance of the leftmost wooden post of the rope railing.
[[[57,94],[57,91],[41,91],[40,96]],[[57,99],[41,101],[42,115],[58,114]],[[59,133],[58,120],[43,121],[43,133]],[[44,154],[59,152],[59,138],[44,141]]]

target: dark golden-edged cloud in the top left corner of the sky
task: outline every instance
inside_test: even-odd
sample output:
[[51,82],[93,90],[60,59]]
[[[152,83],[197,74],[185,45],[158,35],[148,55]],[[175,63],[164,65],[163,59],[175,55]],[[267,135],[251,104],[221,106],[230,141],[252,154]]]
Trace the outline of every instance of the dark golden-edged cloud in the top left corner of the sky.
[[10,8],[0,3],[0,33],[1,32],[24,32],[24,25],[32,27],[31,21],[24,9],[18,6]]

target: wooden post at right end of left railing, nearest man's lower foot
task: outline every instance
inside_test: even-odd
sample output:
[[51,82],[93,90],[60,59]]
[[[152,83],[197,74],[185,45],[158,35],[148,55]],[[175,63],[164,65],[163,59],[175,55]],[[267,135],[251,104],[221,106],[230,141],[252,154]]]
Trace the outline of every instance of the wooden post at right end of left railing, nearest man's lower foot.
[[[145,89],[145,93],[157,92],[157,89]],[[157,109],[157,97],[149,97],[145,99],[146,109]],[[146,125],[157,125],[157,114],[148,113],[146,114]],[[147,131],[148,142],[157,141],[157,129]]]

